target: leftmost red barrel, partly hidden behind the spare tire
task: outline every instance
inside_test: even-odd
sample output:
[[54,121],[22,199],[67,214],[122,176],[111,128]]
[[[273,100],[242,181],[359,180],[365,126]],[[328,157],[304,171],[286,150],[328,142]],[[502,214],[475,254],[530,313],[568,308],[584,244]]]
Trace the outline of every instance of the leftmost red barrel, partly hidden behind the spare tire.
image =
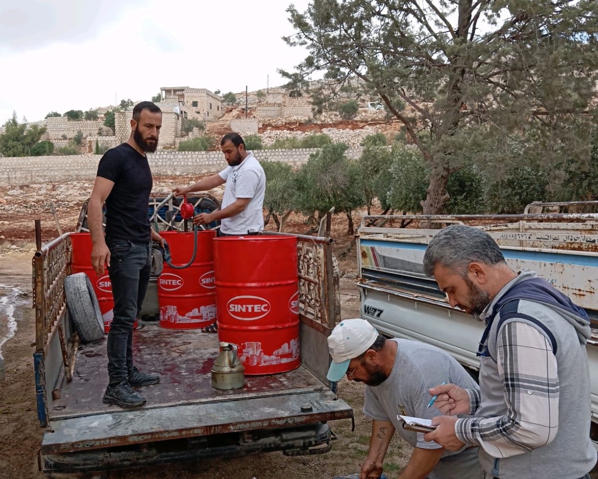
[[114,318],[114,298],[112,298],[112,286],[108,270],[104,271],[101,277],[98,277],[91,266],[91,234],[71,233],[70,237],[72,245],[71,272],[73,274],[86,273],[89,276],[93,291],[97,296],[97,302],[100,304],[100,311],[104,320],[104,332],[108,332],[112,318]]

